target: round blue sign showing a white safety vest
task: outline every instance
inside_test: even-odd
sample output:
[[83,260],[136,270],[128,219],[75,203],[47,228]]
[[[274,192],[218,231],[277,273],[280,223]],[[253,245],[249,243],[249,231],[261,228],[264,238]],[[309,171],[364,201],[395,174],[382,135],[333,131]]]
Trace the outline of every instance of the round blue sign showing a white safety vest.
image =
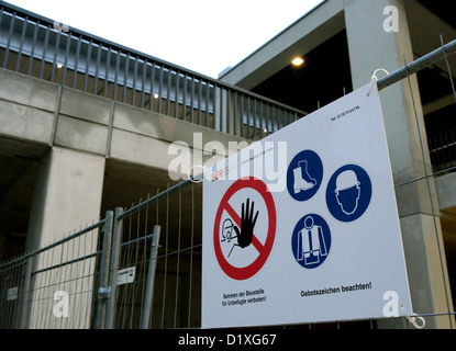
[[294,259],[307,269],[320,267],[330,254],[331,230],[319,215],[302,217],[294,227],[291,237]]

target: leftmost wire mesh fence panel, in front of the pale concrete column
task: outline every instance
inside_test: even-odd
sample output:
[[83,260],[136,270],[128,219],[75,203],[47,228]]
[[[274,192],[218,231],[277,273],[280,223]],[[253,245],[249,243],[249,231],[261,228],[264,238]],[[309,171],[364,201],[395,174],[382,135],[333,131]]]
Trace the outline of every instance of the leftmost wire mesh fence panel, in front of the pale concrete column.
[[107,217],[2,263],[0,328],[89,328],[96,313],[92,302],[100,280],[101,238],[108,230]]

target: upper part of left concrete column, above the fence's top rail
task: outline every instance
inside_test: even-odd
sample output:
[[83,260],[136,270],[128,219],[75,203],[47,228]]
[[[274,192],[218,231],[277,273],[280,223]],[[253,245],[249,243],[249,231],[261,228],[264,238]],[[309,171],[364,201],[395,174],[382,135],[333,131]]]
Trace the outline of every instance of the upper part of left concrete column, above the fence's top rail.
[[26,250],[100,219],[104,157],[54,147],[35,184]]

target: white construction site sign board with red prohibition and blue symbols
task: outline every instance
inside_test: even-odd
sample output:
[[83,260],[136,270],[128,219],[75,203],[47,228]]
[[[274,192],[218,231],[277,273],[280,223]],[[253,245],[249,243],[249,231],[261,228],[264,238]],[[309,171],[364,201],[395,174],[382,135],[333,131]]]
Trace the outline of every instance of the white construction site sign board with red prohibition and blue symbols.
[[203,328],[412,315],[370,88],[205,169]]

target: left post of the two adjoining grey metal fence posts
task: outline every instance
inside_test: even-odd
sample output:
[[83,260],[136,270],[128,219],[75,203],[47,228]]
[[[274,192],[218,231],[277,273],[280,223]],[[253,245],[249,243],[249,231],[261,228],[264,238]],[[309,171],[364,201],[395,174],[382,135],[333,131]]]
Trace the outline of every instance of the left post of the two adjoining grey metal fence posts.
[[103,226],[103,247],[101,253],[101,263],[100,263],[100,283],[98,288],[98,303],[97,303],[97,320],[96,329],[103,329],[105,322],[107,314],[107,303],[109,292],[109,260],[111,257],[111,240],[112,240],[112,211],[108,211],[104,218]]

